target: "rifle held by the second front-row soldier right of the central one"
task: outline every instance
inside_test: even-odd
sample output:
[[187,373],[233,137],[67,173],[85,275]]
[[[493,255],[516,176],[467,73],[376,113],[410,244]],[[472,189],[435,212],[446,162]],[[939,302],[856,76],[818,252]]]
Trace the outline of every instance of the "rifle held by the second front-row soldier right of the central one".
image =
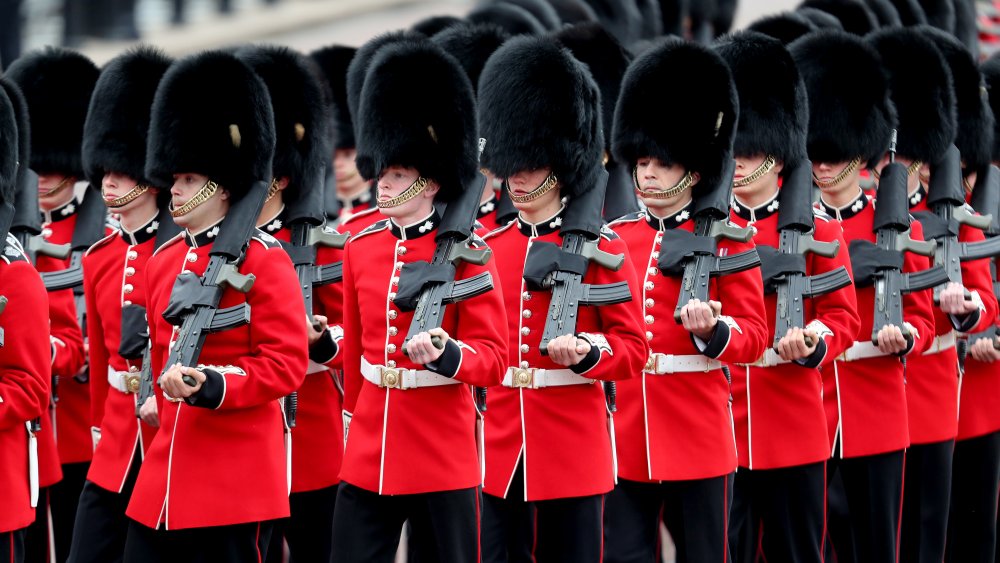
[[[851,285],[851,276],[843,266],[819,275],[806,275],[806,253],[833,258],[840,242],[822,242],[813,238],[815,219],[812,207],[812,164],[805,160],[785,173],[778,196],[779,253],[762,252],[762,272],[772,271],[765,280],[774,280],[777,293],[774,342],[792,327],[805,327],[806,298],[826,295]],[[809,339],[811,340],[811,339]],[[814,342],[807,342],[812,346]]]

